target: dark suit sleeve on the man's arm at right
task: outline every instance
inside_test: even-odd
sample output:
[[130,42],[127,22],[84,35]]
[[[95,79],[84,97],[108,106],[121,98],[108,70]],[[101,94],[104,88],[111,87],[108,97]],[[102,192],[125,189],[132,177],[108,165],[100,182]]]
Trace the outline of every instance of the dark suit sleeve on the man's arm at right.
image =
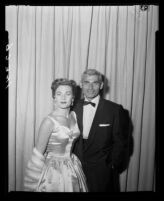
[[128,143],[128,112],[120,105],[113,125],[113,149],[112,149],[112,166],[120,169],[120,165],[124,159],[125,147]]

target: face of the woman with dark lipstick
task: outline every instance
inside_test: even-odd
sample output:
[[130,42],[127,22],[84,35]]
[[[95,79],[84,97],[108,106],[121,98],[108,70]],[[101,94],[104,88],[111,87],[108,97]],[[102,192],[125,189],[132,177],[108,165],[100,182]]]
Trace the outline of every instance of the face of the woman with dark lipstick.
[[65,109],[71,106],[73,99],[72,87],[68,85],[60,85],[55,92],[55,105]]

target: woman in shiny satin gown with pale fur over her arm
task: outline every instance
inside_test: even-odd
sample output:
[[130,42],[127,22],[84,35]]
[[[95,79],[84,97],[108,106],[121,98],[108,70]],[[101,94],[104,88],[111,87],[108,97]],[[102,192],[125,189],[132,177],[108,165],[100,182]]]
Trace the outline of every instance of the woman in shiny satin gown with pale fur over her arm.
[[51,89],[54,110],[40,126],[36,146],[25,170],[24,190],[87,192],[81,162],[71,153],[74,140],[80,135],[76,115],[70,112],[75,82],[56,79]]

